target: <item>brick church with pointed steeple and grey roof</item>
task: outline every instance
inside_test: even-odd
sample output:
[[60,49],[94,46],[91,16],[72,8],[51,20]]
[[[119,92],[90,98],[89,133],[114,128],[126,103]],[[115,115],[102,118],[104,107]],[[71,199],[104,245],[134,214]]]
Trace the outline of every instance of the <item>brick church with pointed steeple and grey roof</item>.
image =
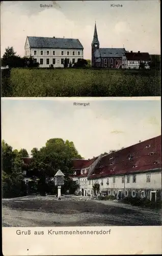
[[122,57],[127,52],[125,48],[100,48],[95,23],[94,35],[92,41],[92,67],[101,68],[120,68]]

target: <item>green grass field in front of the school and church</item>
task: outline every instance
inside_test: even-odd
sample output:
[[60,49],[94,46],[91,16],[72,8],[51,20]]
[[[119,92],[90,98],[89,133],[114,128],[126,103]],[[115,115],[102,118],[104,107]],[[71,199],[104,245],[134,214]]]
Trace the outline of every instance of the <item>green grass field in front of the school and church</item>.
[[122,97],[160,96],[155,71],[93,69],[12,69],[2,96],[9,97]]

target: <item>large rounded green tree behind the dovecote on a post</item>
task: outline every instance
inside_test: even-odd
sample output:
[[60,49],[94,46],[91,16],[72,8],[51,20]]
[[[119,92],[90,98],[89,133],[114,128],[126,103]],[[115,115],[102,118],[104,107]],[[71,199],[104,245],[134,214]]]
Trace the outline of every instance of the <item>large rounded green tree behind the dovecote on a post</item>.
[[52,138],[47,140],[45,146],[40,148],[40,150],[33,148],[31,152],[34,159],[28,169],[33,180],[39,179],[38,190],[41,195],[45,195],[47,191],[49,193],[49,191],[57,190],[52,179],[58,169],[61,169],[65,175],[65,186],[63,189],[65,191],[67,187],[70,191],[76,189],[76,184],[69,178],[69,175],[73,174],[71,159],[82,159],[82,157],[78,154],[72,141]]

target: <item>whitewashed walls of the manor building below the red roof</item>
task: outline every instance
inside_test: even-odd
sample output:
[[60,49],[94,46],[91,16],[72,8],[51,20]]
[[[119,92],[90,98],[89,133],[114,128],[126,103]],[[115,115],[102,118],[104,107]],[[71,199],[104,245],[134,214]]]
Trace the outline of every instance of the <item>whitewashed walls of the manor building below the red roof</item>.
[[[93,184],[100,184],[100,192],[107,191],[108,195],[115,195],[121,191],[125,196],[128,196],[130,191],[132,196],[136,196],[137,191],[141,191],[142,195],[145,190],[151,193],[156,190],[161,190],[161,171],[151,170],[145,173],[134,173],[130,175],[112,175],[109,177],[88,179],[87,177],[79,177],[79,191],[84,196],[91,196],[94,194]],[[75,178],[76,180],[76,178]]]

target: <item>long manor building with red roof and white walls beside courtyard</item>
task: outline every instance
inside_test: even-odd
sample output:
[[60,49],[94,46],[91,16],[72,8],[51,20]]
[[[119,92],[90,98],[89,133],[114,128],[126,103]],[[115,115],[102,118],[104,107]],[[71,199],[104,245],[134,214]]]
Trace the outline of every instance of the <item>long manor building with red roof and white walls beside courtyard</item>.
[[[32,158],[23,158],[28,165]],[[94,195],[98,183],[101,193],[109,196],[141,197],[156,201],[161,197],[161,135],[140,141],[111,154],[92,159],[72,159],[73,175],[79,185],[77,193]],[[26,174],[25,183],[31,181]]]

